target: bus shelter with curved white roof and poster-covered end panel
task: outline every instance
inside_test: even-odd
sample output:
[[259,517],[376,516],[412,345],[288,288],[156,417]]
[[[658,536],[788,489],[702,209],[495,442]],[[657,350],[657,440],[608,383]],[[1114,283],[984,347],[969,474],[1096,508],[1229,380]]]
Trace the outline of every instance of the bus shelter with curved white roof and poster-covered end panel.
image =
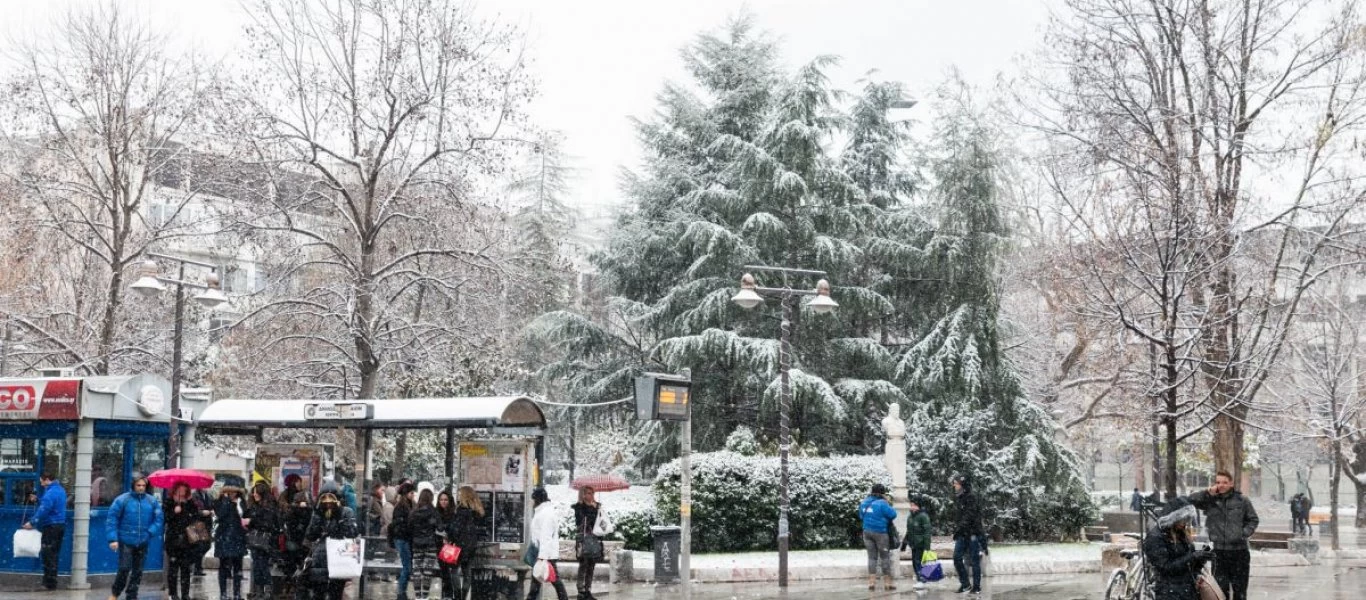
[[[201,433],[254,436],[266,429],[354,429],[363,435],[362,482],[374,478],[373,439],[377,431],[445,431],[445,476],[452,487],[470,485],[485,507],[485,544],[475,554],[489,570],[516,571],[520,579],[523,543],[530,537],[531,489],[540,484],[545,414],[526,396],[413,398],[373,400],[223,399],[195,420]],[[456,443],[459,429],[478,431]],[[279,467],[275,467],[279,469]],[[257,473],[268,481],[279,473]],[[365,495],[366,488],[358,493]],[[363,515],[358,525],[366,529]],[[378,532],[370,532],[378,533]],[[362,584],[363,585],[363,584]]]

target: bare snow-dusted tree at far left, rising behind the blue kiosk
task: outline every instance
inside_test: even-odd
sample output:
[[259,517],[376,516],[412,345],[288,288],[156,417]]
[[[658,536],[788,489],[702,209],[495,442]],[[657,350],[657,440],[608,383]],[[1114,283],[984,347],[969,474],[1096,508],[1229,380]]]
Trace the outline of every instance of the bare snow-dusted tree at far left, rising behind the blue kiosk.
[[137,351],[120,329],[128,267],[187,234],[183,212],[198,191],[182,179],[179,142],[201,138],[214,85],[191,52],[169,51],[116,3],[55,26],[55,36],[8,52],[15,75],[4,83],[0,139],[3,172],[27,206],[7,206],[11,224],[59,242],[36,250],[61,280],[10,317],[48,355],[109,373]]

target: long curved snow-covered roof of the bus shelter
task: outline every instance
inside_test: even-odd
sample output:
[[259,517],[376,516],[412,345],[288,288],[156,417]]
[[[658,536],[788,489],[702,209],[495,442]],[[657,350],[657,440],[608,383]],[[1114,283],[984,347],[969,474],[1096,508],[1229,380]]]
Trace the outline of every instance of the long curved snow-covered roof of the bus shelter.
[[[328,413],[335,410],[352,411],[352,418],[329,418]],[[381,400],[224,399],[209,405],[194,421],[209,432],[337,426],[352,429],[545,428],[545,414],[541,413],[541,407],[526,396]]]

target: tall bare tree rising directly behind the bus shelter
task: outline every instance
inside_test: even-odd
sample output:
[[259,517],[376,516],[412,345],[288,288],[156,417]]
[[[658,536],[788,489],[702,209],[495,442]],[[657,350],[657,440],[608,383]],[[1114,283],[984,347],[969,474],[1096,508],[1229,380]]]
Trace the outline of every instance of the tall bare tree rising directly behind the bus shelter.
[[505,227],[471,198],[516,142],[519,38],[447,0],[260,1],[251,16],[243,144],[270,182],[249,226],[290,239],[275,260],[294,284],[246,320],[275,328],[268,350],[306,357],[320,394],[374,398],[387,368],[470,335],[432,308],[497,310],[470,301],[497,298]]

